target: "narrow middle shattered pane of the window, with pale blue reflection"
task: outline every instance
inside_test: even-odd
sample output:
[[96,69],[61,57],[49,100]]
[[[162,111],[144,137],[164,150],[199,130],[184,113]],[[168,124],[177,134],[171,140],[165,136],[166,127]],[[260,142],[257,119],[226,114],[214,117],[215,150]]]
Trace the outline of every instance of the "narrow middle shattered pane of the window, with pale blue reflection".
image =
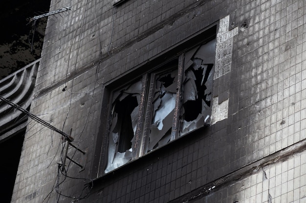
[[153,116],[150,124],[147,151],[165,145],[170,141],[175,111],[176,88],[177,70],[156,76],[152,102]]

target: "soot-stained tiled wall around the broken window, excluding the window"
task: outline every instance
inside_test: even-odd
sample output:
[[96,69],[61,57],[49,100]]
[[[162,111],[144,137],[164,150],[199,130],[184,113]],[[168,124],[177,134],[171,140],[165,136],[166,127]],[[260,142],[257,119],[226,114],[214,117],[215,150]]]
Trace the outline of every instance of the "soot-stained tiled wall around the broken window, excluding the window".
[[[72,128],[86,155],[68,154],[85,169],[68,162],[61,175],[61,135],[32,121],[12,202],[306,201],[304,1],[52,0],[50,11],[66,6],[48,20],[31,112]],[[108,92],[213,25],[212,125],[101,177]]]

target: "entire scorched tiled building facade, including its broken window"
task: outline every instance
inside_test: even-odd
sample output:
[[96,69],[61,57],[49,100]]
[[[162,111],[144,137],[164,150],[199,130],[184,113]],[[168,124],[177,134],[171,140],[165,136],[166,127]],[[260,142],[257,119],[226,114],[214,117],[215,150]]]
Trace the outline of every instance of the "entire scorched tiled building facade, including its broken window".
[[306,5],[51,0],[12,203],[306,203]]

